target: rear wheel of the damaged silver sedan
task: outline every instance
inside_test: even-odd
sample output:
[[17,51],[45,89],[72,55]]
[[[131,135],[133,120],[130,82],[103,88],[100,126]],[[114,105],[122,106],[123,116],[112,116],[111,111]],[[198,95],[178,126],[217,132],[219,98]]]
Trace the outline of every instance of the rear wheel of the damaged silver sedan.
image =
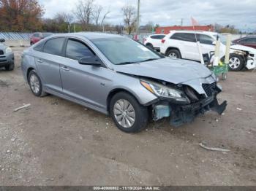
[[29,87],[32,93],[37,97],[42,97],[46,95],[45,92],[42,91],[42,82],[39,76],[37,75],[35,70],[31,70],[29,72]]

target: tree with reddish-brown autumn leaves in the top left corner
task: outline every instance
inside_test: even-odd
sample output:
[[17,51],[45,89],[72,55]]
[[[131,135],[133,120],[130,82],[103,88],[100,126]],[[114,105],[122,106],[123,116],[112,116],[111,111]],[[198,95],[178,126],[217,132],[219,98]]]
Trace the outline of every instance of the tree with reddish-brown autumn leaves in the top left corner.
[[37,0],[0,0],[0,31],[38,31],[43,13]]

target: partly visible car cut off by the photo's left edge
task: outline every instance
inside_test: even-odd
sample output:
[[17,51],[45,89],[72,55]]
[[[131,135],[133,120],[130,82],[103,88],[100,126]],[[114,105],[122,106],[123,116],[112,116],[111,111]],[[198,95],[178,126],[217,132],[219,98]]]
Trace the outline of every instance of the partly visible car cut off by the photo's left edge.
[[0,68],[11,71],[14,69],[14,53],[4,42],[4,39],[0,39]]

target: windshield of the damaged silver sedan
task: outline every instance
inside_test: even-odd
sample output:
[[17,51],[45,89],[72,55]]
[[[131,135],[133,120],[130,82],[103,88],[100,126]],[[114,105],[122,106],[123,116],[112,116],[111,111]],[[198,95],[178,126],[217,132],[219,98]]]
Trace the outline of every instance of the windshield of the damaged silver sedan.
[[98,49],[113,64],[129,64],[161,58],[142,44],[123,37],[92,39]]

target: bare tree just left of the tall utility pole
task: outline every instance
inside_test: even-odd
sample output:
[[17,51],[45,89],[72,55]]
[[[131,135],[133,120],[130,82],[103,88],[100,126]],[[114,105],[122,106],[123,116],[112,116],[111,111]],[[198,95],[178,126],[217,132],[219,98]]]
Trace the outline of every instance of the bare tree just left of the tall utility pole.
[[122,8],[122,12],[124,14],[124,25],[127,26],[128,34],[131,34],[136,25],[135,7],[127,4]]

